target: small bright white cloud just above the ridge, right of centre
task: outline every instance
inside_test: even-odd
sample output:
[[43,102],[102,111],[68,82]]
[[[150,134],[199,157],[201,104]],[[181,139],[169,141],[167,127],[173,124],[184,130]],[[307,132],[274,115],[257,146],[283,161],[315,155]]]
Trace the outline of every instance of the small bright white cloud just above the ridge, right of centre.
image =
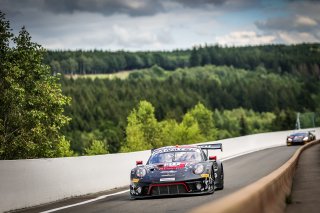
[[227,46],[260,45],[274,43],[273,35],[259,35],[254,31],[236,31],[216,38],[219,44]]

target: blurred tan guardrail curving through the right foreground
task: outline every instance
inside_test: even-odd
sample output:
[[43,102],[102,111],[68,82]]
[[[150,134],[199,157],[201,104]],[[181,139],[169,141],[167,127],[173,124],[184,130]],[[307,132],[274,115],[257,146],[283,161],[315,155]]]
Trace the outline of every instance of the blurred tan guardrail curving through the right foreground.
[[193,209],[191,213],[284,212],[300,154],[319,143],[317,140],[302,146],[271,174],[225,198]]

